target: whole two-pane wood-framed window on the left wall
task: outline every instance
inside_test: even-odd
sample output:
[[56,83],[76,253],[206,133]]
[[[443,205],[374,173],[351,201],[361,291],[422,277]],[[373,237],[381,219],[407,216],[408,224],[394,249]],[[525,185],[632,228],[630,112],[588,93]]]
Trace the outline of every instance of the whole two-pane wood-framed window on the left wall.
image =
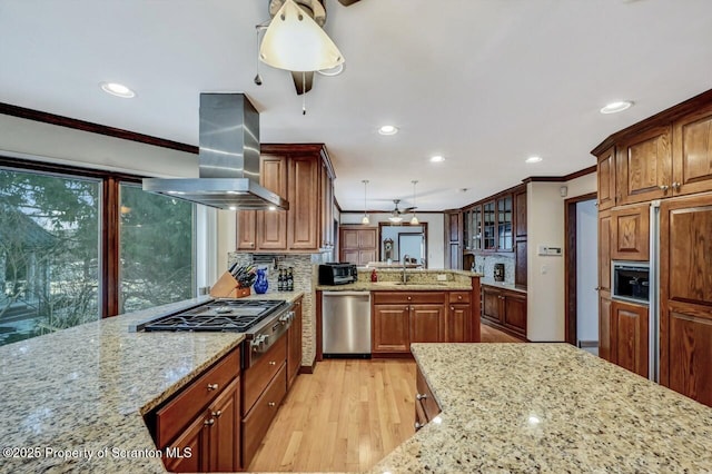
[[195,296],[196,206],[139,179],[0,157],[0,345]]

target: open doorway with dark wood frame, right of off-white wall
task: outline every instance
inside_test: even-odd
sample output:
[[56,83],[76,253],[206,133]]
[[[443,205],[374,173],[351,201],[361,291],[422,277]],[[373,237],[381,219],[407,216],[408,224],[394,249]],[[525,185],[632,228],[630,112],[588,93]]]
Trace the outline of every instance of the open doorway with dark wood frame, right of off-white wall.
[[566,342],[594,354],[599,348],[597,219],[595,192],[566,199]]

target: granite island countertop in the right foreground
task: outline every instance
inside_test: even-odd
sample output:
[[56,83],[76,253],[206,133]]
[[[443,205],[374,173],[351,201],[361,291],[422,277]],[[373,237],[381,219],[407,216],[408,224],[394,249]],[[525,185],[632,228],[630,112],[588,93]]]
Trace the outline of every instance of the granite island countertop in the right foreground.
[[443,409],[373,473],[712,472],[712,408],[567,344],[413,344]]

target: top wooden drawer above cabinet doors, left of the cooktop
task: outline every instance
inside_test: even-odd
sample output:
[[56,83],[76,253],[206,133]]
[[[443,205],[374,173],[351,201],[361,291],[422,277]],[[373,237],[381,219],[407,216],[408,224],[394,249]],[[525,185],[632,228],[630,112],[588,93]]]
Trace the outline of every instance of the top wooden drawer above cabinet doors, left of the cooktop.
[[196,382],[156,413],[156,442],[166,446],[239,374],[239,347],[222,357]]

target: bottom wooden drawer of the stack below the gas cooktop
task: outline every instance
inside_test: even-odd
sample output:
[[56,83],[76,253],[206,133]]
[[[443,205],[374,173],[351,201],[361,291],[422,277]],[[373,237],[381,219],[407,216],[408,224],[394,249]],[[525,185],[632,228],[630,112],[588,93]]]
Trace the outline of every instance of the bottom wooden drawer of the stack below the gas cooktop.
[[243,419],[243,466],[245,468],[249,467],[286,394],[287,373],[285,364],[281,364],[275,378],[255,403],[254,409]]

